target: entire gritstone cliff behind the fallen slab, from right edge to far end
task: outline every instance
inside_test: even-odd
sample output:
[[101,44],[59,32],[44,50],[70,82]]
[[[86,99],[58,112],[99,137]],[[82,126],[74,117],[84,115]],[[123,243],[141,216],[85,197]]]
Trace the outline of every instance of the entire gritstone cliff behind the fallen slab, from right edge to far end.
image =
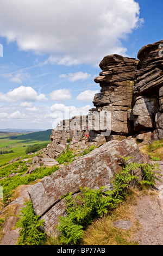
[[[99,64],[102,72],[95,78],[101,86],[101,92],[94,96],[95,108],[88,115],[63,120],[52,132],[46,155],[57,157],[65,150],[67,139],[78,142],[87,134],[88,141],[96,144],[116,136],[153,132],[163,112],[161,44],[163,40],[143,46],[138,59],[118,54],[105,56]],[[102,118],[103,113],[106,118]],[[72,129],[74,122],[76,127]],[[160,130],[157,129],[153,138],[160,138]]]

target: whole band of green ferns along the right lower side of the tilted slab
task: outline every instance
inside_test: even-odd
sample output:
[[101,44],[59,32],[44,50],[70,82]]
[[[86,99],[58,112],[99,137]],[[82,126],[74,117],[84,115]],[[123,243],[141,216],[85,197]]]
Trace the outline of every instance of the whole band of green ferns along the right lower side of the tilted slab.
[[[67,216],[60,217],[58,229],[61,233],[59,240],[65,245],[77,245],[84,235],[84,230],[95,218],[102,217],[115,209],[118,204],[126,199],[131,186],[154,186],[160,169],[154,164],[137,164],[127,161],[131,157],[122,157],[122,170],[114,173],[112,179],[113,190],[104,192],[104,187],[99,190],[84,188],[80,190],[81,195],[75,198],[72,193],[65,196]],[[142,169],[143,180],[133,174],[133,170]]]

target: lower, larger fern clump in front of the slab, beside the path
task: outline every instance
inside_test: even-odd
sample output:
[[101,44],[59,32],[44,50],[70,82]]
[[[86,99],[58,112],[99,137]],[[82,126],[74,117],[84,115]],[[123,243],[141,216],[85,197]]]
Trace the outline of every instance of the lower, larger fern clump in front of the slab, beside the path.
[[76,245],[84,235],[84,229],[92,223],[95,218],[101,217],[108,212],[108,207],[115,208],[118,199],[112,197],[113,191],[106,191],[108,196],[103,197],[103,189],[80,190],[81,196],[72,197],[72,193],[66,199],[66,217],[60,217],[58,229],[61,232],[60,242],[65,245]]

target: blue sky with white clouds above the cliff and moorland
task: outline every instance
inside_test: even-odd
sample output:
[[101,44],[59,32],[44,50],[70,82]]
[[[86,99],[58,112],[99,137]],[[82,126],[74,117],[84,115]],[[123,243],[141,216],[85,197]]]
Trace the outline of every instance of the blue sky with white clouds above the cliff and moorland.
[[0,0],[0,129],[88,113],[108,54],[162,40],[162,0]]

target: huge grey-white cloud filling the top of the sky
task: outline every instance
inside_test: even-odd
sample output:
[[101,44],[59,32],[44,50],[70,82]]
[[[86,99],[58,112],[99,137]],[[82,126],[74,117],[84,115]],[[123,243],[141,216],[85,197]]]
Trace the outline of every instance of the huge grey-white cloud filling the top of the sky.
[[126,53],[121,39],[139,27],[139,14],[134,0],[1,0],[0,35],[50,54],[44,64],[98,65],[106,54]]

